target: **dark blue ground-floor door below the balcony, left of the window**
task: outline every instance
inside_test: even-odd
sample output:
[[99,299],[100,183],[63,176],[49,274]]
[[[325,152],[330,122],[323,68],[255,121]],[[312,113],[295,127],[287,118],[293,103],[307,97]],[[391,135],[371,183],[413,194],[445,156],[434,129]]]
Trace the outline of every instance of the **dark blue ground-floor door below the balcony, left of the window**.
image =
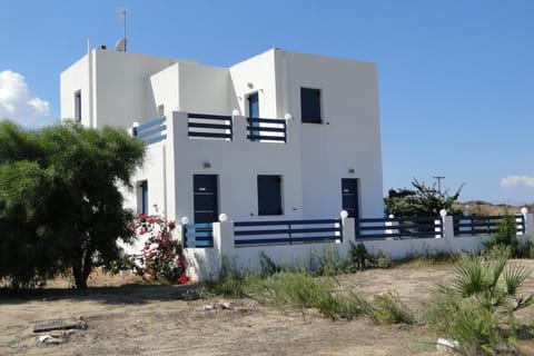
[[219,205],[216,175],[194,175],[192,198],[195,224],[218,220]]

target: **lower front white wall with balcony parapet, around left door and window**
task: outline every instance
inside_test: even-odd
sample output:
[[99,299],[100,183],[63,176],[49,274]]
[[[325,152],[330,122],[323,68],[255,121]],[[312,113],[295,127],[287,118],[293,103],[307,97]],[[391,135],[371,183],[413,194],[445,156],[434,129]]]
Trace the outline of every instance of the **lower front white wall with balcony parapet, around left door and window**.
[[[174,112],[168,122],[169,146],[175,155],[176,217],[186,216],[192,222],[192,176],[217,175],[219,184],[219,211],[230,219],[288,219],[300,218],[301,190],[298,167],[295,167],[298,147],[296,142],[253,142],[246,138],[244,117],[235,119],[233,141],[189,139],[186,113]],[[172,132],[172,134],[170,134]],[[170,144],[172,142],[172,144]],[[209,162],[210,168],[204,168]],[[258,216],[257,176],[283,177],[281,216]]]

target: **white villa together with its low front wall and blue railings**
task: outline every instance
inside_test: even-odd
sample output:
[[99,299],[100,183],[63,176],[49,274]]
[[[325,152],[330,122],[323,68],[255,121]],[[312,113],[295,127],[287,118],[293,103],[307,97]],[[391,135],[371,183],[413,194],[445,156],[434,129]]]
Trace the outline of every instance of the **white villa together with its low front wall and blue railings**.
[[[257,267],[260,253],[303,261],[362,241],[402,258],[481,249],[496,231],[498,217],[444,210],[382,218],[374,63],[271,49],[219,68],[98,48],[61,73],[61,117],[145,141],[127,204],[178,222],[194,279],[220,273],[226,257]],[[523,209],[516,221],[527,239],[534,216]]]

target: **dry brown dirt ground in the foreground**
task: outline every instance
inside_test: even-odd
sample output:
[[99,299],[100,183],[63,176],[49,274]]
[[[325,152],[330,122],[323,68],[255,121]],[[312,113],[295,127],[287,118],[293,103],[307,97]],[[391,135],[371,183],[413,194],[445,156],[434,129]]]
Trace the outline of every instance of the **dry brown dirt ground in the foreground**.
[[[524,261],[534,268],[534,260]],[[428,300],[432,286],[446,281],[452,267],[404,266],[339,277],[372,298],[397,293],[412,309]],[[323,318],[314,310],[258,305],[254,300],[195,299],[196,286],[144,286],[135,277],[96,274],[86,293],[56,280],[32,296],[0,296],[0,355],[451,355],[436,349],[436,336],[424,327],[376,326],[365,319]],[[534,276],[523,291],[534,293]],[[36,322],[76,319],[62,343],[41,344]],[[534,325],[534,314],[521,316]],[[521,355],[534,355],[525,340]]]

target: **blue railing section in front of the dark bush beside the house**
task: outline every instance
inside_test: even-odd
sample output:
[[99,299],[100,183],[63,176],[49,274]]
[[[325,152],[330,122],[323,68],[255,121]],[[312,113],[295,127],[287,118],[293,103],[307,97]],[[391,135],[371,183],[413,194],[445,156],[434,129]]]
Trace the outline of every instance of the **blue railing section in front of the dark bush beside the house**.
[[356,238],[435,238],[443,237],[441,217],[355,219]]

